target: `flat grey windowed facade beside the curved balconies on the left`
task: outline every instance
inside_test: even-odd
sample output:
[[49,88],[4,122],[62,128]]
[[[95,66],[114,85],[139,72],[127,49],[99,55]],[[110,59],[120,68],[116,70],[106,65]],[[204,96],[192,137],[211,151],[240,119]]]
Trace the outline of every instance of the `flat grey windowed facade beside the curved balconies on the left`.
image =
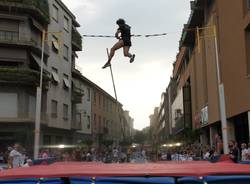
[[[75,16],[60,0],[50,0],[47,43],[50,48],[48,70],[52,82],[47,91],[46,109],[48,127],[42,135],[43,144],[73,144],[74,132],[79,124],[72,117],[72,62],[77,51],[82,50],[81,36],[76,28]],[[75,35],[78,34],[78,37]],[[77,44],[78,43],[78,44]]]

